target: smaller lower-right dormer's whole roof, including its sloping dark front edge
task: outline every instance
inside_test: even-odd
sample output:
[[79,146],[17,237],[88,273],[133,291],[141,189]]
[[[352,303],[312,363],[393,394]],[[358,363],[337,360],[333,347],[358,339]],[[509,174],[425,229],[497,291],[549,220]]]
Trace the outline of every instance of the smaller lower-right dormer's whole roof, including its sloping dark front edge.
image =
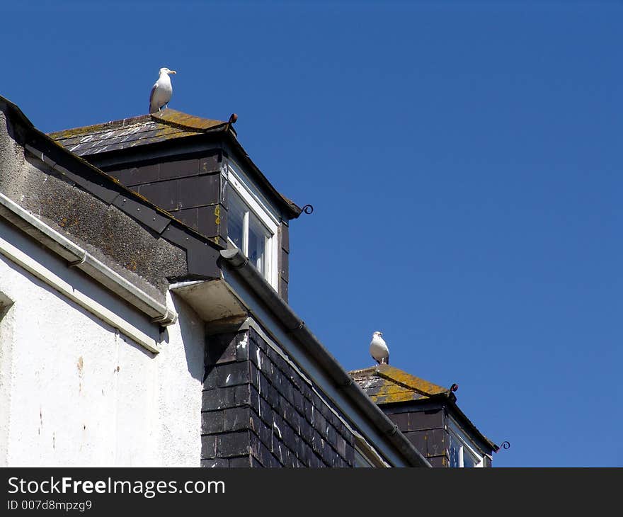
[[450,388],[438,386],[386,364],[353,370],[349,372],[349,375],[372,399],[372,402],[379,406],[396,402],[421,403],[430,399],[445,399],[445,403],[452,407],[459,419],[464,421],[476,436],[489,445],[491,450],[496,452],[499,450],[498,445],[484,436],[457,406],[457,397],[453,393],[457,385],[452,385]]

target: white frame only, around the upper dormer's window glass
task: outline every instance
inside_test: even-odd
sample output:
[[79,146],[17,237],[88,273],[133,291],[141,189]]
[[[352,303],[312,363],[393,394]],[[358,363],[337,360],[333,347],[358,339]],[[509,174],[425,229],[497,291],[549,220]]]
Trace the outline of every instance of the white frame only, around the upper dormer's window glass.
[[[271,234],[271,237],[267,239],[264,254],[266,258],[265,265],[265,274],[264,278],[273,286],[273,289],[278,290],[278,280],[279,280],[279,246],[278,246],[278,229],[279,229],[279,220],[276,217],[276,211],[270,208],[270,204],[268,203],[263,196],[251,186],[251,181],[247,178],[247,176],[241,171],[240,167],[232,160],[227,162],[227,181],[229,185],[236,191],[236,194],[240,196],[243,203],[248,207],[248,209],[253,212],[256,217],[260,220],[262,225],[268,232]],[[241,251],[247,255],[248,254],[248,215],[245,215],[243,221],[243,247],[245,249],[241,249]],[[232,239],[227,237],[227,240],[231,242],[234,246],[234,242]]]

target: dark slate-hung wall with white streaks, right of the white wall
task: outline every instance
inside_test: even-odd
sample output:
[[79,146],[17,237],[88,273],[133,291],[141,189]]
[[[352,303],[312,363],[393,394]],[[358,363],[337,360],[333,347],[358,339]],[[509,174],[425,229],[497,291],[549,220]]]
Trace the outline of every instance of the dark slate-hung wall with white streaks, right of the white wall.
[[353,434],[253,329],[211,336],[202,402],[204,467],[352,467]]

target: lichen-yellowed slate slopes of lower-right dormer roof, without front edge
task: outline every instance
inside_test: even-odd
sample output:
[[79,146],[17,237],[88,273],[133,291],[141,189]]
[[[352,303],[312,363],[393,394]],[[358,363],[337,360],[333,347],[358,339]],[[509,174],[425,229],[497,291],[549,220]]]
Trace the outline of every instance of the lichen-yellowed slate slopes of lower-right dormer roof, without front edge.
[[386,364],[355,370],[350,372],[350,376],[376,404],[430,399],[436,395],[451,393],[448,388]]

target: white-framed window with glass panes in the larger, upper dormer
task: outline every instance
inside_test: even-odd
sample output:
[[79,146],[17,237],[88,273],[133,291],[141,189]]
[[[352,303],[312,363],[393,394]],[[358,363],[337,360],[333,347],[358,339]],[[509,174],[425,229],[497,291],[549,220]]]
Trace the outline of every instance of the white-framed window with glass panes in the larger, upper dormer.
[[256,266],[277,290],[277,229],[279,222],[261,194],[233,163],[228,165],[227,239]]

